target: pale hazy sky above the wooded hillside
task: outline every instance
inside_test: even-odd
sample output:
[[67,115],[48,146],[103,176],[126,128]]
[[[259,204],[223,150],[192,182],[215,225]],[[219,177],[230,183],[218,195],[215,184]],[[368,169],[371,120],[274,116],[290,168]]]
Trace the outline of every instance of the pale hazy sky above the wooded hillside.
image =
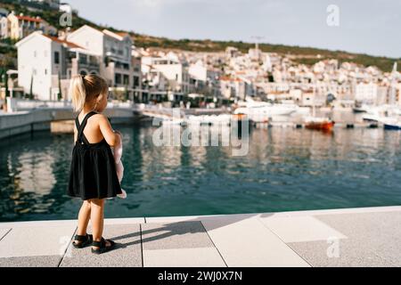
[[263,37],[258,41],[401,58],[400,0],[66,2],[88,20],[149,36],[243,42]]

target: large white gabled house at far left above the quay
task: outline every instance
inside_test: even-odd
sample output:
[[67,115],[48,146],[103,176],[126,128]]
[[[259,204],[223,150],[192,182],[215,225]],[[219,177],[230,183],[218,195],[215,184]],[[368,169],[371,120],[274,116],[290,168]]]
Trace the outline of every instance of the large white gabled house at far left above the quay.
[[[38,100],[57,100],[68,94],[70,77],[79,73],[99,73],[100,57],[79,45],[37,31],[16,44],[18,85]],[[61,90],[60,88],[61,87]]]

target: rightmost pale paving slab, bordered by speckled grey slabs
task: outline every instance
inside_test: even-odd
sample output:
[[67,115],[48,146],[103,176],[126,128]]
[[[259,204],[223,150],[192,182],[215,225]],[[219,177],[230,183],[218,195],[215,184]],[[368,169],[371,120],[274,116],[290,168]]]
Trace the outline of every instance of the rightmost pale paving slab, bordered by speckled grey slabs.
[[314,216],[261,217],[260,220],[284,242],[347,239]]

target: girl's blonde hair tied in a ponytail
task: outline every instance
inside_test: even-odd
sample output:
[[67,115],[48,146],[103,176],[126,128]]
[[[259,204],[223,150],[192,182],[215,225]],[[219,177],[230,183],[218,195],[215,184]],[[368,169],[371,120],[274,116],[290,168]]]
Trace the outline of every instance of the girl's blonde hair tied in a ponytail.
[[99,94],[109,90],[106,80],[95,74],[76,75],[70,81],[70,98],[75,111],[84,108],[86,102],[92,102]]

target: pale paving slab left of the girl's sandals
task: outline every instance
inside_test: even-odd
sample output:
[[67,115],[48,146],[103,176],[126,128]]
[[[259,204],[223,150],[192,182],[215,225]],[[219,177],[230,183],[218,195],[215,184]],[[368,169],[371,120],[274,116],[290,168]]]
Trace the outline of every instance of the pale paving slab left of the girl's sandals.
[[75,225],[14,227],[0,240],[0,257],[62,256]]

